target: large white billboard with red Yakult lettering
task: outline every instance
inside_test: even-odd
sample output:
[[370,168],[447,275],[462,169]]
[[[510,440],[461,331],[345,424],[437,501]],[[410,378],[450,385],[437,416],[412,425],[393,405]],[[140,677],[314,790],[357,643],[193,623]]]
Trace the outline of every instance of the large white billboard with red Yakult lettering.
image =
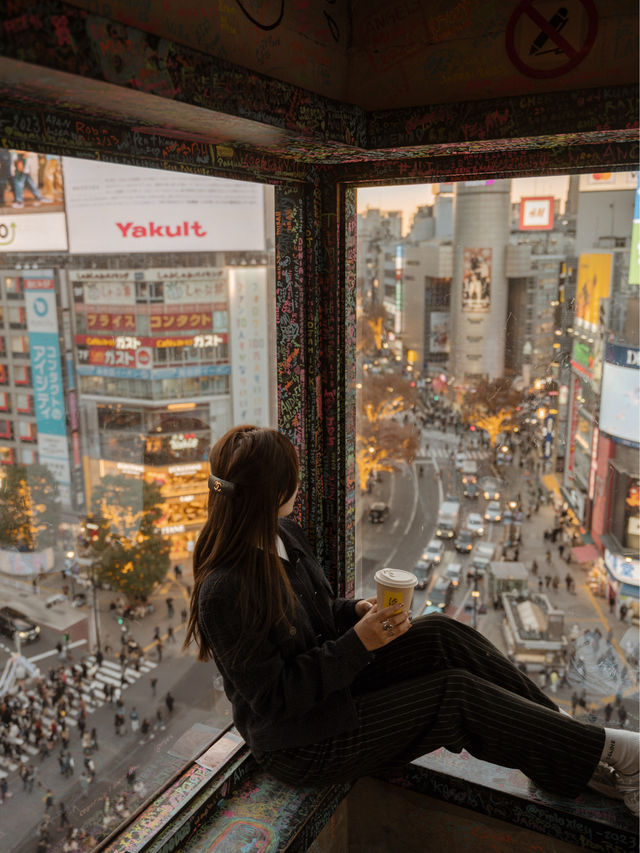
[[263,187],[64,157],[71,252],[263,251]]

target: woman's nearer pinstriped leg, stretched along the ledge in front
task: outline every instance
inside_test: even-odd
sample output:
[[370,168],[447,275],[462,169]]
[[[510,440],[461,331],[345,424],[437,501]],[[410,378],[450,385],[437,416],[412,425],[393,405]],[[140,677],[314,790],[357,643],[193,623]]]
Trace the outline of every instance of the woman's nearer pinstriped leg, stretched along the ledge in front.
[[351,781],[444,746],[518,768],[541,787],[575,797],[591,778],[604,746],[603,729],[466,669],[442,669],[396,682],[364,693],[356,702],[357,729],[270,753],[266,769],[287,782]]

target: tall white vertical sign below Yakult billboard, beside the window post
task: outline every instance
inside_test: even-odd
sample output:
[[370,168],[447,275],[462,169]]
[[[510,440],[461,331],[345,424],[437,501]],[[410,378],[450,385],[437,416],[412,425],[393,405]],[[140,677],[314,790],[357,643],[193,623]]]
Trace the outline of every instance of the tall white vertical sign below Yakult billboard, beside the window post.
[[[229,271],[229,334],[233,420],[269,426],[267,271]],[[274,365],[275,367],[275,365]]]

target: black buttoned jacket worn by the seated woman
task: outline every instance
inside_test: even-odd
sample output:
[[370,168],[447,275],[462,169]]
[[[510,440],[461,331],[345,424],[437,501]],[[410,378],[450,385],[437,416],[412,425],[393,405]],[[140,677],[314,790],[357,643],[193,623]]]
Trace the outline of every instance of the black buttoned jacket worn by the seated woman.
[[203,582],[198,601],[198,624],[213,648],[234,723],[258,753],[304,746],[356,728],[349,686],[373,659],[353,630],[357,599],[332,598],[295,522],[281,519],[280,536],[298,605],[291,632],[273,628],[250,659],[230,663],[230,650],[247,630],[234,606],[242,595],[242,571],[216,569]]

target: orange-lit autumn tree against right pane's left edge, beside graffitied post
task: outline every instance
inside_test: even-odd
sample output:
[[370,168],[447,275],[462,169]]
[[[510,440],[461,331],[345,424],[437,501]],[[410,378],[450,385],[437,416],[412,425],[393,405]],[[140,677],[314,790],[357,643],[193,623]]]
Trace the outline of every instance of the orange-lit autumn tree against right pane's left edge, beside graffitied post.
[[411,424],[400,424],[393,415],[406,412],[416,402],[416,390],[403,377],[365,375],[358,383],[356,462],[360,488],[378,471],[392,471],[399,463],[411,463],[420,439]]

